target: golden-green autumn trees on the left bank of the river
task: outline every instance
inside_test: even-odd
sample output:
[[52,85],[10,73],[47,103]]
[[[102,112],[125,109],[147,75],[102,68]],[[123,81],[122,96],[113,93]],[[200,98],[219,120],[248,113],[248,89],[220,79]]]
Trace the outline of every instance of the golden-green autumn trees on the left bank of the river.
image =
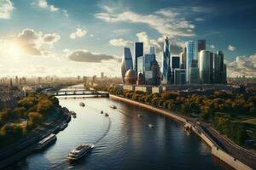
[[54,96],[28,92],[15,109],[0,112],[0,144],[3,146],[26,136],[44,122],[57,105],[59,100]]

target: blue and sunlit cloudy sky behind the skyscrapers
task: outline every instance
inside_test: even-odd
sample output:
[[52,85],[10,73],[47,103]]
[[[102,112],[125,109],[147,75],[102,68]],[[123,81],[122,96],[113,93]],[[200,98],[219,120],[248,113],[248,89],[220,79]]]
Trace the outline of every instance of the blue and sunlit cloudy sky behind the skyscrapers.
[[256,77],[255,0],[0,0],[0,77],[120,77],[124,47],[163,40],[222,50],[228,75]]

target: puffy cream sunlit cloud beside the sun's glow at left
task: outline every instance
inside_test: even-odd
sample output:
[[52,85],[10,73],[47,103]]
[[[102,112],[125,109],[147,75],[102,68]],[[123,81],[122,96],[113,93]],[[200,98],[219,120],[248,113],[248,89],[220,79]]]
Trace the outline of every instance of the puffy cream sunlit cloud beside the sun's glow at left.
[[19,42],[20,47],[26,54],[30,55],[47,55],[49,54],[43,46],[45,44],[52,45],[61,39],[57,33],[43,34],[41,31],[34,31],[33,29],[26,28],[22,30],[15,40]]

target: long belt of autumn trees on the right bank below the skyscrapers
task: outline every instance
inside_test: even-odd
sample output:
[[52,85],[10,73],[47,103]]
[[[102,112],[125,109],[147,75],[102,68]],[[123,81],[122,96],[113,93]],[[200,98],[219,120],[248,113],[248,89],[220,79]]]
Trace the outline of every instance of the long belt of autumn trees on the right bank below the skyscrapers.
[[183,97],[175,93],[146,94],[139,91],[122,91],[113,87],[108,88],[108,92],[154,107],[177,111],[184,116],[200,116],[202,120],[212,122],[212,126],[219,133],[226,134],[237,144],[247,139],[247,133],[241,122],[231,119],[239,115],[256,116],[256,96],[244,94],[216,91],[208,96],[193,94]]

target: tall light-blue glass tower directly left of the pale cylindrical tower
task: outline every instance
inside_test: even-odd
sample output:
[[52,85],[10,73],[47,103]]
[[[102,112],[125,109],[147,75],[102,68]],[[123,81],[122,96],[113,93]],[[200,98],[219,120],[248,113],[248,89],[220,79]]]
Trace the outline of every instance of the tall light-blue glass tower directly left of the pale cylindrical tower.
[[197,47],[196,42],[186,42],[186,82],[189,84],[199,82],[199,69],[197,65]]

